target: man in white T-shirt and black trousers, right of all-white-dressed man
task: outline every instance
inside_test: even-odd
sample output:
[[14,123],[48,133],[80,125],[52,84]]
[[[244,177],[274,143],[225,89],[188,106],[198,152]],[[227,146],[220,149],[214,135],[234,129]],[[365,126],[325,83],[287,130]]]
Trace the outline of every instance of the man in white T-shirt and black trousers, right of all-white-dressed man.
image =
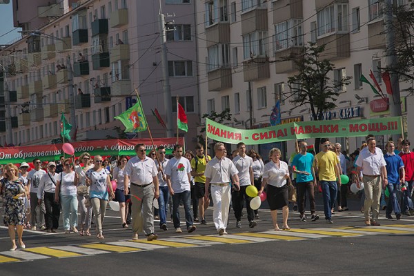
[[235,211],[236,227],[242,228],[242,211],[244,206],[244,199],[246,199],[248,226],[253,228],[257,226],[255,221],[255,212],[250,208],[250,200],[252,199],[246,194],[246,188],[254,184],[253,178],[253,159],[246,155],[246,144],[243,142],[237,144],[237,152],[239,153],[233,158],[237,170],[239,171],[240,190],[233,190],[231,199],[233,203],[233,210]]

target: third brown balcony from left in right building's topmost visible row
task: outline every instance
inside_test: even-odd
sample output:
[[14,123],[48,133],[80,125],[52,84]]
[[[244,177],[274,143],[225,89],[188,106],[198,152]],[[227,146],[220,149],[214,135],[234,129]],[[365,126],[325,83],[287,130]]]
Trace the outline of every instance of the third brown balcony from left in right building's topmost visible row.
[[304,17],[303,0],[273,1],[273,24]]

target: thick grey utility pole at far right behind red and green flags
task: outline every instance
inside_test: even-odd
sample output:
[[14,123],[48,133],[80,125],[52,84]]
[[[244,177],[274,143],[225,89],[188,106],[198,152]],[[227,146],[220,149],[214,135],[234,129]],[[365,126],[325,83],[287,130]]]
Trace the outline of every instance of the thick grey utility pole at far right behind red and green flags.
[[[398,75],[395,72],[395,65],[397,64],[397,56],[395,55],[395,31],[393,26],[393,1],[384,1],[384,23],[385,23],[385,44],[386,44],[386,58],[385,65],[389,68],[391,87],[393,88],[393,95],[390,99],[390,114],[391,116],[401,116],[401,96],[400,83],[398,82]],[[393,135],[393,141],[397,141],[401,134]]]

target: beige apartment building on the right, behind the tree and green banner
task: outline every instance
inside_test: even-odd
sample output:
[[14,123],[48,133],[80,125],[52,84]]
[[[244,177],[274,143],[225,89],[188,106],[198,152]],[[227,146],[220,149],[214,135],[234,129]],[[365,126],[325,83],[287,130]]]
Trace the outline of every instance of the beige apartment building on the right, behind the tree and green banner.
[[[405,1],[394,1],[401,5]],[[383,1],[377,0],[206,0],[197,1],[201,113],[230,108],[234,117],[228,125],[236,128],[269,126],[275,102],[281,102],[283,121],[311,121],[309,106],[293,106],[286,94],[288,77],[295,75],[293,58],[311,41],[326,44],[323,57],[335,64],[331,79],[350,76],[351,83],[337,88],[337,108],[324,119],[375,118],[389,115],[387,105],[375,97],[359,77],[370,70],[386,91],[380,77],[385,67]],[[369,79],[369,77],[368,77]],[[410,133],[413,122],[406,106],[413,97],[400,83],[404,128]],[[202,122],[201,122],[202,123]],[[383,145],[388,137],[378,136]],[[363,137],[338,137],[342,148],[352,152]],[[313,144],[308,139],[308,144]],[[294,141],[255,146],[267,157],[269,148],[279,147],[288,157]],[[235,148],[235,146],[233,146]],[[288,155],[286,155],[288,154]]]

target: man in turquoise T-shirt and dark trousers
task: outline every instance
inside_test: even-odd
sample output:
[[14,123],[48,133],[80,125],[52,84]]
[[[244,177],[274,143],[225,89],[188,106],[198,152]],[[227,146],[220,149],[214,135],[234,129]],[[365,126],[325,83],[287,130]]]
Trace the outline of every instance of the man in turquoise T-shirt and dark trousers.
[[296,172],[297,186],[297,204],[299,207],[300,220],[306,222],[305,215],[305,193],[308,191],[309,205],[311,207],[311,219],[315,221],[319,219],[319,215],[315,213],[315,191],[316,177],[313,169],[314,156],[307,152],[308,144],[302,141],[299,144],[299,154],[292,161],[293,172]]

